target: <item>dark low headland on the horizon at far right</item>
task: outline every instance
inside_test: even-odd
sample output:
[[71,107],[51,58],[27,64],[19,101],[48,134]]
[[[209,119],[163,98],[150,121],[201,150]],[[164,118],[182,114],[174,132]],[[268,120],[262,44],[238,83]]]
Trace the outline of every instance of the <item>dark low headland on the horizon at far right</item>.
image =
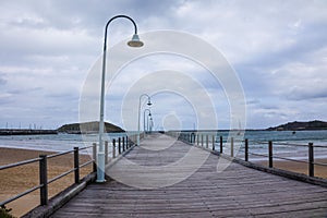
[[314,120],[308,122],[288,122],[275,128],[268,128],[268,131],[304,131],[304,130],[327,130],[327,122]]

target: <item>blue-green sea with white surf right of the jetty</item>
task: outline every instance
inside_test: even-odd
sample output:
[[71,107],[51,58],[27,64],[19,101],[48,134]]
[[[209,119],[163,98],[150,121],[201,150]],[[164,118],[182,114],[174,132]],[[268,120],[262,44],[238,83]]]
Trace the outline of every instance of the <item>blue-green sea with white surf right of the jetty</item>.
[[[219,132],[225,141],[229,132]],[[314,157],[327,158],[327,131],[245,131],[244,140],[249,140],[249,152],[268,155],[268,142],[272,142],[272,155],[292,159],[307,159],[308,143],[314,145]],[[219,138],[218,138],[219,141]],[[244,159],[244,141],[234,143],[239,148],[235,154]],[[225,143],[228,145],[228,143]],[[219,143],[216,143],[219,146]],[[228,146],[223,146],[227,147]],[[227,153],[228,154],[228,153]],[[267,160],[267,157],[250,155],[252,160]]]

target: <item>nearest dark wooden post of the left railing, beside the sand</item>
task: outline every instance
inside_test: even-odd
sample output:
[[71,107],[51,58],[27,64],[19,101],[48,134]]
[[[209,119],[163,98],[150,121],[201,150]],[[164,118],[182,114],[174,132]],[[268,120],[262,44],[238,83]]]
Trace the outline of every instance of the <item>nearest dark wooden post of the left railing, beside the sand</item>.
[[47,205],[48,204],[48,171],[47,171],[47,156],[40,155],[39,158],[39,184],[40,191],[40,205]]

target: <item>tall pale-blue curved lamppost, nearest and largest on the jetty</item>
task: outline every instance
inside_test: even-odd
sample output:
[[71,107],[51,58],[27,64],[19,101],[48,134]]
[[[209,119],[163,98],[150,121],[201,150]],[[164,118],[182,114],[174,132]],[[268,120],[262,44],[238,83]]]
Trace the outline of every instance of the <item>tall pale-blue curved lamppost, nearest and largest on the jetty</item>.
[[101,76],[101,96],[100,96],[100,121],[99,121],[99,149],[97,155],[97,182],[106,182],[105,180],[105,147],[104,147],[104,133],[105,133],[105,81],[106,81],[106,53],[107,53],[107,32],[109,24],[116,19],[128,19],[134,25],[134,35],[128,43],[130,47],[142,47],[144,44],[140,40],[137,35],[136,23],[126,15],[117,15],[110,19],[105,27],[105,43],[104,43],[104,57],[102,57],[102,76]]

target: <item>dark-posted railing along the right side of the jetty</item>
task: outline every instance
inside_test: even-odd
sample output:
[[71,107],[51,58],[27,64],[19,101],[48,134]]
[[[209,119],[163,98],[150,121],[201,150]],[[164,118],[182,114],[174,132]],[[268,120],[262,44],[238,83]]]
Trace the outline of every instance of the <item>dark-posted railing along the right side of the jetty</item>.
[[[185,143],[199,146],[204,149],[217,152],[218,154],[225,154],[228,155],[231,158],[239,158],[242,157],[241,154],[243,154],[243,158],[245,161],[250,160],[250,155],[252,156],[258,156],[267,158],[268,161],[268,168],[274,168],[274,160],[288,160],[293,162],[301,162],[307,165],[307,175],[308,177],[315,177],[315,167],[327,167],[327,164],[320,162],[315,160],[315,148],[323,148],[327,149],[327,146],[324,145],[314,145],[313,143],[308,143],[306,145],[303,144],[292,144],[292,143],[281,143],[281,142],[258,142],[258,141],[249,141],[249,138],[245,138],[244,141],[237,142],[233,137],[230,137],[227,145],[227,138],[223,138],[222,136],[216,135],[217,132],[168,132],[168,135],[177,136],[180,141],[183,141]],[[259,144],[259,145],[266,145],[266,154],[258,154],[252,152],[251,144]],[[218,148],[217,148],[218,146]],[[274,154],[274,146],[292,146],[292,147],[307,147],[307,160],[305,159],[295,159],[295,158],[289,158],[289,157],[282,157],[280,155]],[[226,153],[225,148],[228,148],[228,154]],[[237,156],[235,156],[237,154]],[[327,168],[326,168],[327,170]]]

